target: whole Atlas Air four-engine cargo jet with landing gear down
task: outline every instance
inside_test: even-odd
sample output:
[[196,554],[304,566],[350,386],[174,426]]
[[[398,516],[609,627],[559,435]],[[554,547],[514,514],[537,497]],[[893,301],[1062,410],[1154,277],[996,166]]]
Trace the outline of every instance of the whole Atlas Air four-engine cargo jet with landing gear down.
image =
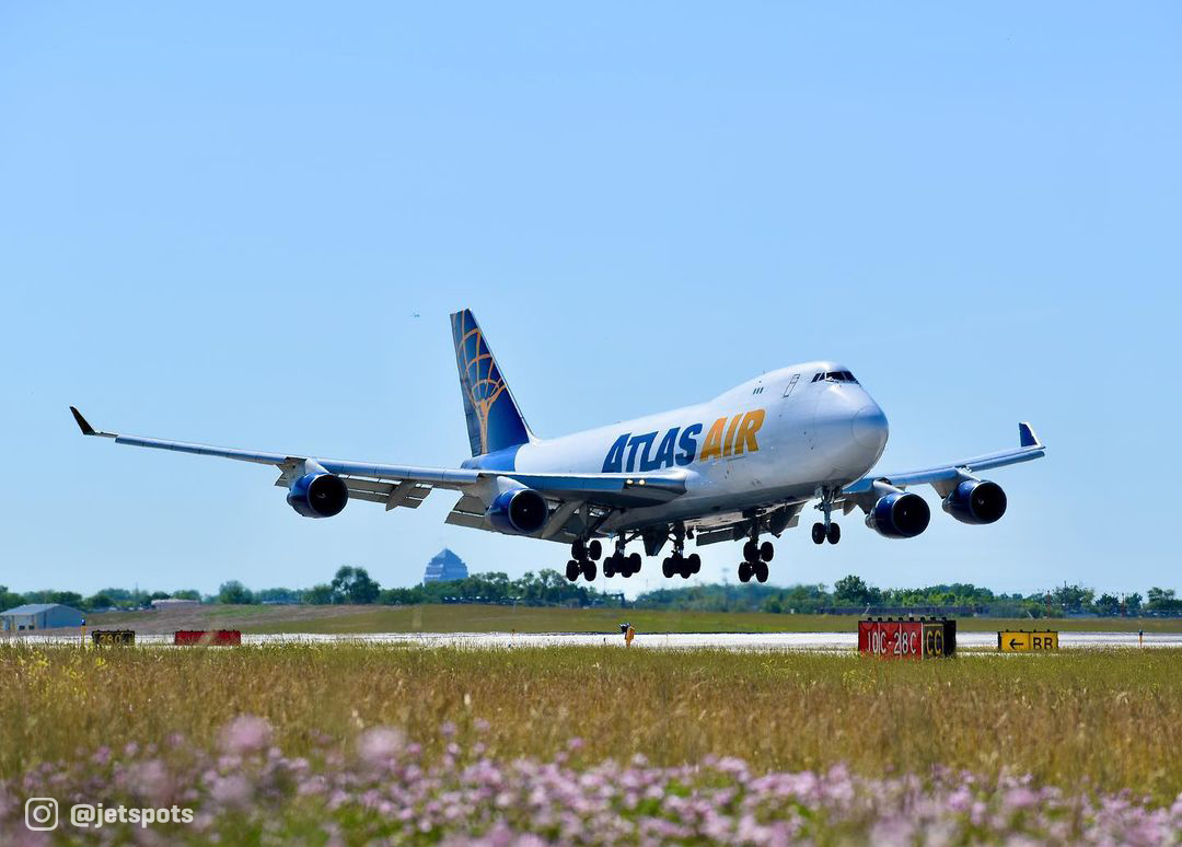
[[[275,484],[305,517],[332,517],[350,500],[416,508],[436,488],[460,493],[448,523],[559,541],[570,546],[566,578],[631,576],[641,541],[664,558],[667,578],[701,568],[697,546],[743,541],[739,579],[764,582],[779,537],[812,501],[816,543],[836,545],[834,513],[855,509],[890,539],[928,528],[927,502],[909,486],[930,484],[962,523],[993,523],[1006,494],[982,471],[1044,455],[1030,424],[1019,447],[900,474],[870,473],[886,447],[886,416],[853,373],[834,361],[806,361],[765,373],[713,399],[560,438],[526,424],[469,310],[452,315],[472,458],[456,468],[353,462],[285,452],[103,432],[73,406],[83,435],[242,462],[273,464]],[[761,539],[764,539],[761,541]],[[605,542],[611,552],[603,556]]]

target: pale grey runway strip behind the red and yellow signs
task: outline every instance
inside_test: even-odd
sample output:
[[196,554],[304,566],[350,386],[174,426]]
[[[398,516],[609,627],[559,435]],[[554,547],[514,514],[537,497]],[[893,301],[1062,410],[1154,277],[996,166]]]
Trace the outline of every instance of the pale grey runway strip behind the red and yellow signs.
[[[77,634],[27,634],[0,640],[21,644],[78,644]],[[171,646],[171,636],[138,636],[139,645]],[[511,632],[454,632],[454,633],[408,633],[379,632],[364,634],[243,634],[242,644],[402,644],[417,647],[470,647],[470,649],[512,649],[512,647],[559,647],[559,646],[602,646],[623,645],[621,633],[511,633]],[[957,650],[986,652],[995,650],[998,636],[995,632],[959,632]],[[858,637],[855,632],[686,632],[686,633],[636,633],[634,647],[657,650],[688,650],[713,647],[717,650],[764,650],[764,651],[814,651],[814,652],[855,652]],[[1182,647],[1182,633],[1149,633],[1138,644],[1136,632],[1060,632],[1059,646],[1064,650],[1102,650],[1142,647]]]

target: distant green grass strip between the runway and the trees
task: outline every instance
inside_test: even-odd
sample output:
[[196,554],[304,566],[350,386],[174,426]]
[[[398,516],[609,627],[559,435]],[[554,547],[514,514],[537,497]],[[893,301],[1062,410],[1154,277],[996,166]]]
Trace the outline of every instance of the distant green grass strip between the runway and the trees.
[[[252,633],[369,632],[852,632],[857,615],[762,612],[661,612],[634,608],[531,606],[203,606],[181,613],[112,612],[91,615],[93,627],[131,626],[143,632],[234,627]],[[1053,628],[1063,632],[1182,632],[1182,618],[960,618],[962,632]]]

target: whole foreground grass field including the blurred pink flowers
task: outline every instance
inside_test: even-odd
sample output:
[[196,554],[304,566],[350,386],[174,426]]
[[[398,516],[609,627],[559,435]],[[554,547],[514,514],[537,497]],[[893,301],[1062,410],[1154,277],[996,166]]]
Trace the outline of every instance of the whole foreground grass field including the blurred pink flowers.
[[41,794],[195,807],[193,828],[164,830],[190,843],[1182,832],[1182,651],[1169,649],[897,663],[17,643],[0,645],[0,841],[27,835],[24,799]]

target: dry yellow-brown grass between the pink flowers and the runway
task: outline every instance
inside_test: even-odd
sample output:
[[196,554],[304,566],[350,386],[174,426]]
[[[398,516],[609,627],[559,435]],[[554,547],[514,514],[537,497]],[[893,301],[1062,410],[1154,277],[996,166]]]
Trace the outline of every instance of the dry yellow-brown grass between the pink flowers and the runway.
[[267,717],[285,749],[396,724],[433,749],[478,719],[498,756],[759,768],[1011,768],[1076,789],[1182,790],[1182,651],[1078,651],[891,663],[853,656],[285,645],[210,650],[0,647],[0,778],[79,749],[212,744]]

